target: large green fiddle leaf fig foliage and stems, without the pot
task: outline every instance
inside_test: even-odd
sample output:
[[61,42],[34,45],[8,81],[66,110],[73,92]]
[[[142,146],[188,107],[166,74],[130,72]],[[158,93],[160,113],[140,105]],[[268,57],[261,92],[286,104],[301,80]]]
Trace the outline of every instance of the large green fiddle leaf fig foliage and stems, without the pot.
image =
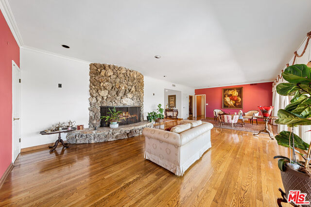
[[[285,109],[277,111],[278,119],[276,124],[288,125],[288,127],[311,125],[311,68],[305,64],[295,64],[287,67],[282,76],[288,82],[278,84],[276,92],[282,96],[294,97]],[[305,143],[298,135],[290,131],[281,131],[275,138],[279,145],[293,149],[293,160],[283,156],[275,157],[279,158],[279,169],[284,171],[284,165],[290,162],[300,165],[299,171],[311,175],[309,159],[307,159],[310,158],[311,145]],[[304,158],[301,154],[305,159],[304,162],[295,159],[295,147],[301,150],[308,150],[307,158]]]

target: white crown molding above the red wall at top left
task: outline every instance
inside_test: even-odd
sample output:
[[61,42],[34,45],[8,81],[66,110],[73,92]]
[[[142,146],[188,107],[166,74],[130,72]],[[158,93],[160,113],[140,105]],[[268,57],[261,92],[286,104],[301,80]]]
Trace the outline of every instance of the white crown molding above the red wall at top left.
[[20,32],[17,28],[15,18],[13,16],[10,4],[7,0],[0,0],[0,10],[6,23],[8,24],[16,42],[19,47],[24,45],[23,39],[21,38]]

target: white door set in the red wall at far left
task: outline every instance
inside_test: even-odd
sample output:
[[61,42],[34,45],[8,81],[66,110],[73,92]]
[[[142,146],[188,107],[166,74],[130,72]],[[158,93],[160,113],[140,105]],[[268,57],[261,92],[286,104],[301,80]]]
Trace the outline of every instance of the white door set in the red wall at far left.
[[20,70],[12,61],[13,162],[20,153]]

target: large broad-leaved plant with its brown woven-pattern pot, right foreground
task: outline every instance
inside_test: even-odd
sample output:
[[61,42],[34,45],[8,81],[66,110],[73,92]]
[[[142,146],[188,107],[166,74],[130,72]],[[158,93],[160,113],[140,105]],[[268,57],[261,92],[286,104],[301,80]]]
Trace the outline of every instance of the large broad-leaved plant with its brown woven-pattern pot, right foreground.
[[[299,125],[311,125],[311,68],[305,64],[295,64],[287,67],[282,73],[286,83],[276,86],[276,91],[282,96],[294,96],[291,103],[285,109],[277,111],[276,124],[296,127]],[[279,145],[290,148],[290,158],[279,158],[278,167],[281,171],[282,182],[288,196],[291,190],[300,190],[307,193],[306,201],[311,201],[311,169],[309,164],[311,144],[305,143],[293,131],[281,131],[276,135]],[[296,159],[295,147],[308,150],[308,154],[299,161]],[[291,153],[292,149],[292,153]]]

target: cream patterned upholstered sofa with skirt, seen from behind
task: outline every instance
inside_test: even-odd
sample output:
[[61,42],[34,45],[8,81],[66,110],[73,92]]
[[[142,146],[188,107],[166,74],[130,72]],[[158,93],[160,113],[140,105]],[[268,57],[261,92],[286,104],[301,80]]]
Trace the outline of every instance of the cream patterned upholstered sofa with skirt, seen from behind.
[[[195,122],[181,120],[180,124]],[[213,125],[202,122],[197,127],[190,128],[180,134],[156,128],[144,128],[145,159],[173,172],[175,175],[184,175],[185,171],[205,151],[211,147],[210,130]]]

